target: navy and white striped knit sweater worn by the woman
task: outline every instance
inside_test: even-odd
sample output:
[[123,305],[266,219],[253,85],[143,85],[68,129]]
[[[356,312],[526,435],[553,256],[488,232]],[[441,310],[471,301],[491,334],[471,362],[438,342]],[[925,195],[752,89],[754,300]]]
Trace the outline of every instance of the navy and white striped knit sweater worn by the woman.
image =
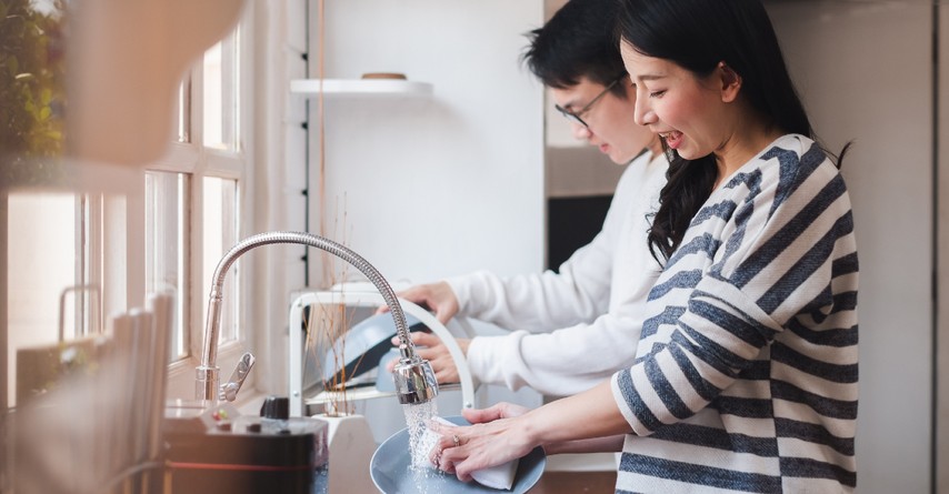
[[617,493],[852,492],[857,248],[847,188],[785,135],[716,190],[612,377]]

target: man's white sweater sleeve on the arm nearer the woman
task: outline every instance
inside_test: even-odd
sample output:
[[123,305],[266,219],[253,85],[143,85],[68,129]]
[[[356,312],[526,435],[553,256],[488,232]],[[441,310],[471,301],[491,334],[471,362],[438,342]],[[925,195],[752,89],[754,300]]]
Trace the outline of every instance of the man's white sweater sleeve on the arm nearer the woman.
[[[648,213],[653,210],[665,180],[665,157],[659,155],[648,164],[649,168],[642,163],[633,173],[623,175],[610,210],[620,214],[615,213],[607,221],[603,230],[608,234],[598,239],[612,244],[602,248],[613,256],[606,264],[610,271],[598,274],[608,282],[609,309],[590,322],[561,325],[549,333],[516,331],[510,335],[473,339],[468,347],[468,363],[481,382],[505,384],[512,390],[530,386],[548,395],[565,396],[586,391],[617,369],[631,364],[646,296],[661,270],[648,252],[646,231]],[[641,193],[642,188],[650,193]],[[573,261],[577,259],[571,259],[561,271],[570,273],[582,265]],[[473,296],[466,293],[463,298]]]

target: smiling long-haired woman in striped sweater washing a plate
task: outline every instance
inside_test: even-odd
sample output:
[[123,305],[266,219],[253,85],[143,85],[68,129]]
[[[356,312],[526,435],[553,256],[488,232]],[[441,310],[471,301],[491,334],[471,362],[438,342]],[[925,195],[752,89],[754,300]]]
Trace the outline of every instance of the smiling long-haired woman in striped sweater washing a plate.
[[437,427],[433,462],[469,481],[538,445],[621,446],[617,492],[852,491],[850,202],[763,7],[622,0],[619,31],[637,121],[671,157],[649,239],[666,269],[636,362],[530,412]]

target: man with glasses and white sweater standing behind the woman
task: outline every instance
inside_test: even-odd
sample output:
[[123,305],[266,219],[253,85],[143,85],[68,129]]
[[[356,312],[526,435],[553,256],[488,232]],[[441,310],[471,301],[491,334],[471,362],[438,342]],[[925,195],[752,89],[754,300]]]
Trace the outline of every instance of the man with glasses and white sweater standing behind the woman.
[[[646,235],[668,162],[658,137],[633,121],[636,89],[613,38],[616,14],[615,0],[571,0],[531,31],[523,54],[573,135],[627,165],[600,233],[559,274],[476,272],[399,293],[442,323],[462,314],[513,330],[458,341],[481,383],[563,396],[629,366],[636,354],[640,306],[661,269]],[[413,333],[412,341],[440,383],[458,382],[438,336]]]

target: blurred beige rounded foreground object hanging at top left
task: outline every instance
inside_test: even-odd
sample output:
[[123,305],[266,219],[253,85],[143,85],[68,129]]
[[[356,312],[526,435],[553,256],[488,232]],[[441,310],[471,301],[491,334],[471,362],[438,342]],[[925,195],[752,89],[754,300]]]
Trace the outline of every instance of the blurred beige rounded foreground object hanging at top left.
[[70,12],[67,154],[143,164],[171,142],[176,89],[244,0],[86,0]]

